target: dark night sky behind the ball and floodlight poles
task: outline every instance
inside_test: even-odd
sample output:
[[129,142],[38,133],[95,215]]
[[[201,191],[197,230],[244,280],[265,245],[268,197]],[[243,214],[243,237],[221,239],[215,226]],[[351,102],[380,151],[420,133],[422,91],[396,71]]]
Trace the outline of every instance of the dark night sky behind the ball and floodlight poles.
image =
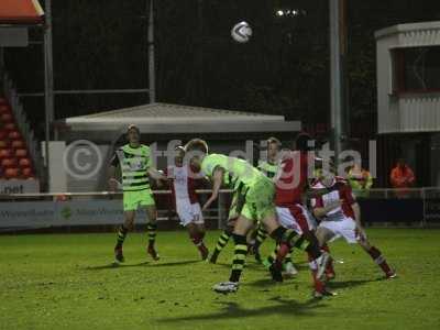
[[[53,0],[55,88],[147,87],[146,2],[107,0],[103,6],[102,1]],[[371,122],[374,130],[373,32],[396,23],[440,20],[440,1],[348,2],[350,117]],[[282,113],[306,123],[326,123],[327,3],[327,0],[156,1],[158,100]],[[275,16],[277,9],[300,9],[307,14],[279,19]],[[230,37],[231,26],[242,20],[254,30],[252,41],[244,45]],[[41,34],[34,32],[33,38],[41,38]],[[6,59],[20,91],[43,90],[41,45],[8,50]],[[23,101],[31,120],[41,122],[43,99]],[[147,101],[144,95],[57,96],[56,118]]]

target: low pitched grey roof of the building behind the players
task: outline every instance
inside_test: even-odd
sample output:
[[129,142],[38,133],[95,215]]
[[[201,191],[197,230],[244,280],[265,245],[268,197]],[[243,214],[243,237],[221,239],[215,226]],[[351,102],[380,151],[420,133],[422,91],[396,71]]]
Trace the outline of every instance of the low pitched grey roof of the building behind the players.
[[136,124],[143,133],[245,133],[298,132],[299,121],[284,116],[152,103],[133,108],[66,118],[70,131],[114,131]]

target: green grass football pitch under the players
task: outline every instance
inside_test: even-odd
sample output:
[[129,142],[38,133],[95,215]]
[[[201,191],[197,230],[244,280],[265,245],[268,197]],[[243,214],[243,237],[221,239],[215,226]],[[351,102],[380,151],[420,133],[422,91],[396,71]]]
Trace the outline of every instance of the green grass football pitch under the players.
[[[185,232],[158,232],[161,261],[131,234],[125,264],[110,267],[114,234],[0,237],[0,329],[439,329],[440,230],[371,229],[399,277],[384,280],[359,246],[331,245],[339,295],[310,299],[310,276],[274,284],[248,257],[237,294],[227,280],[232,242],[218,265],[198,260]],[[209,232],[211,248],[219,231]],[[267,241],[264,251],[273,243]]]

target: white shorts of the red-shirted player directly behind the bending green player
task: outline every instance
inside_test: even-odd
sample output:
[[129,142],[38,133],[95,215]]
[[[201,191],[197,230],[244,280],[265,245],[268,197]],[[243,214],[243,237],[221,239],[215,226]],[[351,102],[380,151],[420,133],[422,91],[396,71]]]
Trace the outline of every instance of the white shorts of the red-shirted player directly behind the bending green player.
[[276,215],[280,226],[286,229],[293,229],[298,234],[316,229],[315,219],[309,211],[299,204],[290,207],[276,207]]

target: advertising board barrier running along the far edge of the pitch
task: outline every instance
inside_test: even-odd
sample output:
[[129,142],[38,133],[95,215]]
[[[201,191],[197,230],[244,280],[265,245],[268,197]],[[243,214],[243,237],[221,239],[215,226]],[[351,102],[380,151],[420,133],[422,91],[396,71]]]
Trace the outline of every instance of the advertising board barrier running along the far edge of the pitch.
[[[198,190],[204,202],[211,190]],[[222,228],[229,212],[231,190],[220,190],[217,204],[205,212],[205,219]],[[169,190],[154,191],[160,221],[178,224]],[[354,191],[356,194],[356,191]],[[406,190],[371,189],[358,198],[362,221],[369,224],[418,227],[440,224],[440,188]],[[139,210],[138,219],[146,218]],[[0,195],[0,230],[56,227],[116,226],[123,219],[121,193],[51,193]]]

